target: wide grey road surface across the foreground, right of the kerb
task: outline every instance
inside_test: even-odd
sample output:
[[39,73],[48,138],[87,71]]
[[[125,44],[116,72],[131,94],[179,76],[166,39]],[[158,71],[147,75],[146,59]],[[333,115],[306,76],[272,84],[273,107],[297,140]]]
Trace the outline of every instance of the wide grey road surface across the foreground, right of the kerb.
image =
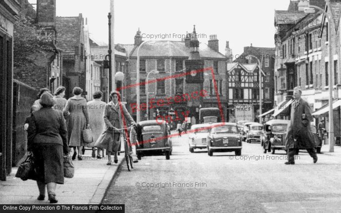
[[[132,172],[122,164],[103,204],[126,212],[341,212],[341,156],[263,154],[243,143],[242,156],[189,153],[188,138],[173,138],[173,155],[144,157]],[[154,184],[154,187],[148,187]]]

